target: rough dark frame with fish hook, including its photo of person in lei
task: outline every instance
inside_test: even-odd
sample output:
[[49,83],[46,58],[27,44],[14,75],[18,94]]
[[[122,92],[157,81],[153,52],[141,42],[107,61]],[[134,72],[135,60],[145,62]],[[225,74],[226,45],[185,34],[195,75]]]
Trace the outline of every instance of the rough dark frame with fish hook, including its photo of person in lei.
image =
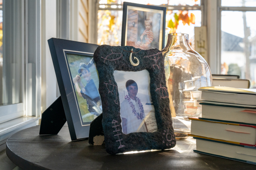
[[106,151],[117,154],[174,147],[176,139],[160,50],[102,45],[95,50],[93,59],[102,99],[99,131],[104,132]]

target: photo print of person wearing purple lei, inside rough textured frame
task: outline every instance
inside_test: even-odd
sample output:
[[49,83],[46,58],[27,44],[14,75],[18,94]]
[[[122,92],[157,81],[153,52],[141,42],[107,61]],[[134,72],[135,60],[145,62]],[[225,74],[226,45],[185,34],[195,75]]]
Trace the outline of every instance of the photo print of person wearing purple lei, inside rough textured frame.
[[150,94],[149,72],[115,70],[113,75],[119,92],[122,132],[156,132],[157,121]]

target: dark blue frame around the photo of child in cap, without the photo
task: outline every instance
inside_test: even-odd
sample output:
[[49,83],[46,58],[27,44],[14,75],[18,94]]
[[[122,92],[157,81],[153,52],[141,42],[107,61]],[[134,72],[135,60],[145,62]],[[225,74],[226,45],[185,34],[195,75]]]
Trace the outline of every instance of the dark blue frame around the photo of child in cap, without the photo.
[[[56,78],[58,81],[58,86],[61,94],[61,101],[64,107],[65,116],[67,119],[67,124],[70,131],[71,140],[78,140],[82,138],[88,138],[89,137],[89,130],[90,130],[90,122],[94,119],[91,115],[90,119],[91,121],[86,121],[84,118],[82,118],[81,115],[81,107],[87,106],[79,106],[79,101],[76,92],[76,87],[73,82],[74,78],[74,71],[71,71],[70,68],[70,62],[68,59],[69,56],[75,56],[74,58],[81,58],[82,61],[86,59],[86,61],[89,61],[93,58],[93,53],[98,47],[96,44],[90,44],[90,43],[81,43],[77,41],[71,41],[71,40],[63,40],[63,39],[57,39],[57,38],[51,38],[48,40],[50,53],[52,56],[52,62],[55,69]],[[75,60],[73,63],[78,63],[79,60]],[[92,61],[90,63],[86,63],[89,67],[89,64],[91,65]],[[74,65],[78,67],[77,65]],[[81,66],[81,63],[80,63]],[[77,70],[80,68],[76,68]],[[73,68],[74,69],[74,68]],[[95,68],[96,70],[96,68]],[[73,74],[73,76],[72,76]],[[79,74],[79,73],[77,73]],[[90,74],[97,74],[95,72],[90,72]],[[97,78],[98,75],[96,75]],[[82,79],[82,76],[81,76]],[[87,101],[87,100],[86,100]],[[87,101],[88,104],[88,101]],[[52,113],[54,114],[54,113]]]

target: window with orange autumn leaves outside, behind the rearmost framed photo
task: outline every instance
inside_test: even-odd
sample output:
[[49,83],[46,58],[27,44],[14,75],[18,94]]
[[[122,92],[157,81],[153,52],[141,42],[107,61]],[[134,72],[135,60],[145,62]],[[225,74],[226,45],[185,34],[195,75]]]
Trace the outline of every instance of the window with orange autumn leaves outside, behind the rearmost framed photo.
[[[122,4],[124,0],[99,0],[98,40],[99,45],[121,44]],[[165,6],[167,8],[166,27],[169,32],[187,33],[190,43],[195,44],[194,27],[204,25],[203,3],[200,0],[125,0],[131,3]]]

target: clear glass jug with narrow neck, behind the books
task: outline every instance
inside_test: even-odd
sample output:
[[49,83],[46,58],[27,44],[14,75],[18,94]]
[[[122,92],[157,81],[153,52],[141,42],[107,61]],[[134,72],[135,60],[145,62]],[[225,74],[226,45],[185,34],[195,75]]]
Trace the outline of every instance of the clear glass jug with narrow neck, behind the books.
[[210,68],[204,58],[189,44],[189,35],[171,33],[161,51],[165,58],[166,85],[169,92],[172,126],[176,138],[187,138],[189,117],[201,117],[199,87],[212,86]]

